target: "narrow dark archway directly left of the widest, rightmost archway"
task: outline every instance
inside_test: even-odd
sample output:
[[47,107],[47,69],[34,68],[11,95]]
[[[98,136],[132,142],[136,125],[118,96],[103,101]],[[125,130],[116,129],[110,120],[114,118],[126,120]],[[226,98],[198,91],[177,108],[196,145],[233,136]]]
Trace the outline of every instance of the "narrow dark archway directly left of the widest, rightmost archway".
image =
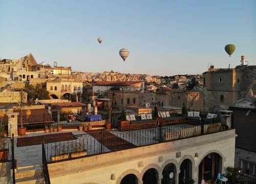
[[180,165],[179,184],[184,184],[190,179],[192,179],[192,162],[186,158]]

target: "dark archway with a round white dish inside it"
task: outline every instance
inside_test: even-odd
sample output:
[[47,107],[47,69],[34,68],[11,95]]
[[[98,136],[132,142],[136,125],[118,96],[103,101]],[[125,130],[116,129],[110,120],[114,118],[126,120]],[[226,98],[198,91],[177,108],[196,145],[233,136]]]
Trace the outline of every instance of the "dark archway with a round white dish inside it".
[[[176,180],[176,166],[172,163],[170,164],[167,164],[164,169],[163,169],[163,178],[162,178],[162,181],[161,183],[162,184],[174,184],[176,183],[175,180]],[[173,173],[173,174],[171,174]]]

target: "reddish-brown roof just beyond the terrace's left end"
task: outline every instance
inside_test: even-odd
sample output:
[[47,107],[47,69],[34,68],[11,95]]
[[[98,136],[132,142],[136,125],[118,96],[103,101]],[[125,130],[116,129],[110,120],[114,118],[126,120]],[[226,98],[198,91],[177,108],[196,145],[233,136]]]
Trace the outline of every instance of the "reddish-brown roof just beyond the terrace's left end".
[[[30,116],[26,116],[26,109],[23,110],[23,124],[42,124],[42,123],[53,123],[51,115],[45,108],[40,109],[30,109]],[[13,110],[13,112],[18,112],[18,124],[20,124],[21,110]]]

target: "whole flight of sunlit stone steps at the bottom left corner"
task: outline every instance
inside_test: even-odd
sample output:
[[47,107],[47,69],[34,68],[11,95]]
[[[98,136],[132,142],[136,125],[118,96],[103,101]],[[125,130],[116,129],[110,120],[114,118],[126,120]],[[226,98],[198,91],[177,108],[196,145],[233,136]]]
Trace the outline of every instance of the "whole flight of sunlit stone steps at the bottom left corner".
[[18,184],[43,184],[44,176],[42,176],[42,167],[29,166],[17,168],[15,174],[15,181]]

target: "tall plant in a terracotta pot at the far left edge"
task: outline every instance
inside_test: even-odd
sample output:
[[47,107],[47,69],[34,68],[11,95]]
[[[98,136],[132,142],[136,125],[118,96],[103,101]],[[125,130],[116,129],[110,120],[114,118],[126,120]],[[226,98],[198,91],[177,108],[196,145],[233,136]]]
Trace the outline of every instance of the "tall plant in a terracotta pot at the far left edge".
[[4,114],[0,114],[0,160],[7,160],[9,155],[9,149],[6,149],[7,141],[4,138],[5,125],[4,125]]

